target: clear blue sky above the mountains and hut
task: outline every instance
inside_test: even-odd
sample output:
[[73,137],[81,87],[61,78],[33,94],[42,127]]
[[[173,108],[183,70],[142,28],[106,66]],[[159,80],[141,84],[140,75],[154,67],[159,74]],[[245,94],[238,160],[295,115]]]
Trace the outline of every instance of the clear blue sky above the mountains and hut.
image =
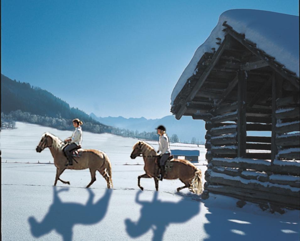
[[171,115],[172,90],[222,12],[298,1],[1,1],[1,73],[97,116]]

